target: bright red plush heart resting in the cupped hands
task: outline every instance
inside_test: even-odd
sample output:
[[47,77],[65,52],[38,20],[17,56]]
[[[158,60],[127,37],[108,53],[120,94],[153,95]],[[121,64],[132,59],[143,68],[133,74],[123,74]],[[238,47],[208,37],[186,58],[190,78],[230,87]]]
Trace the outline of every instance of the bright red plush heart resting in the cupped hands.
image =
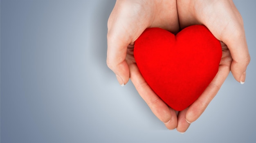
[[171,108],[184,110],[207,88],[218,72],[222,48],[203,25],[177,35],[146,29],[135,41],[137,66],[154,92]]

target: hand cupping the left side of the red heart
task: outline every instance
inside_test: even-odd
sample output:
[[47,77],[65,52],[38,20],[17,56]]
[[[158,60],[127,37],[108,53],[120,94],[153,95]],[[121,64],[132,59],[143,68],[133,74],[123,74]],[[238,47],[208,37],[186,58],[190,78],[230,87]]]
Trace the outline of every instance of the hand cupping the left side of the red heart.
[[176,112],[148,86],[133,56],[135,40],[149,27],[177,33],[176,0],[117,0],[108,19],[107,64],[116,74],[119,84],[126,84],[130,78],[152,112],[168,129],[174,129],[177,126]]

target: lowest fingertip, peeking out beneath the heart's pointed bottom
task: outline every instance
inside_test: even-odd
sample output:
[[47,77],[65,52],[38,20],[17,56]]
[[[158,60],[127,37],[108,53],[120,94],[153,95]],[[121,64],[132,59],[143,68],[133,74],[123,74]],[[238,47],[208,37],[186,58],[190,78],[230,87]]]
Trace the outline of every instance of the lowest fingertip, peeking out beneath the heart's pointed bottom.
[[186,130],[189,128],[190,123],[186,121],[186,112],[188,108],[185,110],[182,110],[178,114],[178,122],[177,122],[177,128],[176,130],[180,132],[181,134],[184,134]]

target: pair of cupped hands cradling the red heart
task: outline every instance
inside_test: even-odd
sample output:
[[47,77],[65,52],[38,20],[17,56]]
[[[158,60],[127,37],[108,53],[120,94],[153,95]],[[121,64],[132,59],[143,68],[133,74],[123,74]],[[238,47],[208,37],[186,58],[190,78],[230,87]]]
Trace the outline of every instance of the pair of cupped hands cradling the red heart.
[[[136,65],[133,44],[150,27],[174,34],[203,24],[221,42],[222,59],[216,77],[202,95],[180,112],[168,107],[148,86]],[[117,0],[108,19],[108,67],[121,86],[131,79],[139,95],[168,129],[185,132],[217,94],[230,70],[243,84],[250,62],[243,20],[232,0]]]

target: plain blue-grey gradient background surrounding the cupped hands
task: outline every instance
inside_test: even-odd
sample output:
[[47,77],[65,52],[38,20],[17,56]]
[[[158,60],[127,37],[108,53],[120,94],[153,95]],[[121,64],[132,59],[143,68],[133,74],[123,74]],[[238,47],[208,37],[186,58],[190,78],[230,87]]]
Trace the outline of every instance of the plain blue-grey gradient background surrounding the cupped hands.
[[115,0],[1,0],[1,143],[256,142],[256,1],[234,0],[252,60],[185,134],[106,65]]

